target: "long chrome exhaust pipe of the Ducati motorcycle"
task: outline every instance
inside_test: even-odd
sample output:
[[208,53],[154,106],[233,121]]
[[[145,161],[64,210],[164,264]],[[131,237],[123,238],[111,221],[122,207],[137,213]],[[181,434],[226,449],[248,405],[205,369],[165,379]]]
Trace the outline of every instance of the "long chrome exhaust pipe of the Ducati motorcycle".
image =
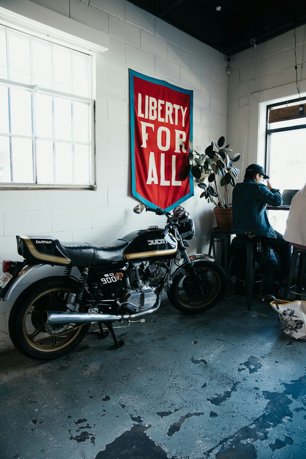
[[154,313],[161,305],[161,298],[158,296],[157,301],[153,308],[139,311],[134,314],[102,314],[102,313],[61,313],[61,312],[48,312],[43,314],[43,322],[46,325],[58,324],[86,324],[88,322],[115,322],[122,320],[136,319],[137,317]]

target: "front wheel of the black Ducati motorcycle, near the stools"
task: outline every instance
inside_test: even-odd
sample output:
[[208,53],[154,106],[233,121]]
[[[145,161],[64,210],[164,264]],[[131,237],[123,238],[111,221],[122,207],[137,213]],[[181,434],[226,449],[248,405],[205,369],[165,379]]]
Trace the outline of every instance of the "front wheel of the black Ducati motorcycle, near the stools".
[[226,291],[226,274],[217,262],[195,262],[195,272],[201,285],[199,291],[185,271],[173,277],[168,299],[174,308],[188,314],[201,313],[213,308]]

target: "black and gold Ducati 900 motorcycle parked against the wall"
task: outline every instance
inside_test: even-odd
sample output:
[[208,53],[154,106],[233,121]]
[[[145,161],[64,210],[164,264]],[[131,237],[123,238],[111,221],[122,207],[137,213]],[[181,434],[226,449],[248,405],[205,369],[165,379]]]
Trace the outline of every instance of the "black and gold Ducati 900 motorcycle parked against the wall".
[[[98,323],[101,338],[111,333],[111,349],[118,349],[123,341],[117,340],[113,324],[156,312],[163,290],[174,308],[188,314],[207,311],[223,298],[222,266],[211,256],[187,254],[186,241],[195,235],[189,213],[181,206],[171,214],[143,204],[134,212],[144,209],[167,217],[165,228],[151,225],[109,246],[60,242],[45,235],[16,236],[17,252],[24,260],[3,261],[0,301],[8,300],[35,269],[65,266],[61,276],[33,282],[14,302],[8,325],[18,351],[36,360],[61,357],[78,346],[91,322]],[[78,278],[72,275],[73,267]]]

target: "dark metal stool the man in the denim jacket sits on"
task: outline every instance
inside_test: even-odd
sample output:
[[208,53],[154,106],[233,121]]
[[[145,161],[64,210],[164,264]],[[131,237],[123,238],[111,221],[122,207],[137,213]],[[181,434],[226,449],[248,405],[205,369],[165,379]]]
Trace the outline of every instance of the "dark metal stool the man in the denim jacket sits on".
[[[246,252],[246,298],[247,298],[247,305],[248,311],[251,310],[252,304],[252,295],[253,295],[253,286],[258,282],[262,282],[262,280],[254,280],[254,273],[255,273],[255,246],[254,241],[250,239],[250,241],[243,241],[238,239],[237,237],[234,238],[230,245],[230,259],[228,264],[228,272],[227,272],[227,279],[228,279],[228,294],[229,294],[229,286],[230,286],[230,271],[233,263],[234,252],[235,249],[245,249]],[[264,275],[259,274],[261,277],[265,278]],[[236,277],[237,280],[237,277]],[[241,279],[242,280],[242,279]]]

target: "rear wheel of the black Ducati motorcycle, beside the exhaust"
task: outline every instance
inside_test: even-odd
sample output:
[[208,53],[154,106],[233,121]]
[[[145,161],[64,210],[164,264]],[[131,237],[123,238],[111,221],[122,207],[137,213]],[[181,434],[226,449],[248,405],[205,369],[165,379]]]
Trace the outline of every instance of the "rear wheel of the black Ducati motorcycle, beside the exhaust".
[[67,297],[78,283],[54,276],[25,289],[14,303],[9,317],[11,341],[19,352],[34,360],[52,360],[74,349],[89,330],[89,324],[45,325],[45,311],[67,311]]

